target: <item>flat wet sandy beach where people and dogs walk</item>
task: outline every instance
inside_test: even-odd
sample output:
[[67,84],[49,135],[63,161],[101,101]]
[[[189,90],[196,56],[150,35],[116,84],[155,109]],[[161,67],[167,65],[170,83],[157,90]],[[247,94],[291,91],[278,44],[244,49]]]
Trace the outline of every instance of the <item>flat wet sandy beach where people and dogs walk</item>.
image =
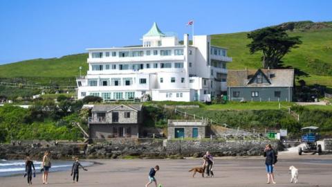
[[[42,184],[41,175],[33,179],[33,186],[145,186],[149,169],[156,164],[156,174],[163,186],[332,186],[332,155],[302,155],[280,153],[275,166],[277,184],[266,184],[264,157],[215,158],[214,178],[192,178],[190,168],[200,166],[201,159],[133,159],[91,160],[100,165],[80,171],[80,181],[73,184],[68,172],[50,172],[49,184]],[[299,184],[291,184],[289,166],[299,169]],[[0,177],[0,186],[28,186],[26,178],[20,176]]]

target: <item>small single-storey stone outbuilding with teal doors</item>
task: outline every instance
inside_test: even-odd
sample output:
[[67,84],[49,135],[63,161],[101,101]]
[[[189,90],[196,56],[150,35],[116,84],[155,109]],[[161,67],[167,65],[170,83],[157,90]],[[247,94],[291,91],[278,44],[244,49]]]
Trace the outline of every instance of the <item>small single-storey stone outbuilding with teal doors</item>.
[[168,120],[168,138],[205,138],[208,130],[203,120]]

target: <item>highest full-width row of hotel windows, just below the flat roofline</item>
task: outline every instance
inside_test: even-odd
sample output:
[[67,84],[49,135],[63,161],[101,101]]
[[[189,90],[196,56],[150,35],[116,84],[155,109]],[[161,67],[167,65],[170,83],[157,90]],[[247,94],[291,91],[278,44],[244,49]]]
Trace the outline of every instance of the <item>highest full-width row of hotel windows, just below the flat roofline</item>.
[[169,56],[172,55],[183,55],[183,49],[166,49],[166,50],[153,50],[153,51],[112,51],[112,52],[93,52],[91,53],[92,58],[102,58],[102,57],[142,57],[144,55],[158,55]]

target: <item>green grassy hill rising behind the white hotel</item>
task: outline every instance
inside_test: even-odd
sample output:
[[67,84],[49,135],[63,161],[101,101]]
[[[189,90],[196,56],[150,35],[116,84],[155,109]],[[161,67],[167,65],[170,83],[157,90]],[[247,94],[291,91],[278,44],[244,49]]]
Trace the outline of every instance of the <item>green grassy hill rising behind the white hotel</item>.
[[[281,24],[288,28],[288,34],[299,35],[303,44],[295,48],[284,58],[285,66],[291,66],[303,71],[307,84],[323,84],[332,88],[332,22],[313,23],[299,21]],[[261,67],[260,54],[250,55],[247,44],[250,39],[247,33],[231,33],[212,35],[212,44],[229,48],[228,55],[233,62],[228,69],[257,69]],[[88,69],[87,54],[66,55],[60,58],[35,59],[4,64],[0,66],[0,79],[12,81],[15,78],[24,78],[26,82],[48,84],[75,84],[75,76],[79,75],[79,66],[82,74]]]

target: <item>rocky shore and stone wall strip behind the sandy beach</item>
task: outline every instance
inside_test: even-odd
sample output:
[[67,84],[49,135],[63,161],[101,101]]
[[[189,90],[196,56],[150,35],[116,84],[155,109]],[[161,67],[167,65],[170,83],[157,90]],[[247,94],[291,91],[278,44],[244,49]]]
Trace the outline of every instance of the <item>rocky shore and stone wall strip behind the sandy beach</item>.
[[[258,156],[267,143],[280,148],[278,141],[114,139],[90,145],[84,143],[11,143],[0,145],[0,159],[24,159],[27,154],[40,159],[46,150],[53,159],[117,159],[117,158],[182,158],[202,157],[209,150],[213,155]],[[15,145],[14,145],[15,144]]]

